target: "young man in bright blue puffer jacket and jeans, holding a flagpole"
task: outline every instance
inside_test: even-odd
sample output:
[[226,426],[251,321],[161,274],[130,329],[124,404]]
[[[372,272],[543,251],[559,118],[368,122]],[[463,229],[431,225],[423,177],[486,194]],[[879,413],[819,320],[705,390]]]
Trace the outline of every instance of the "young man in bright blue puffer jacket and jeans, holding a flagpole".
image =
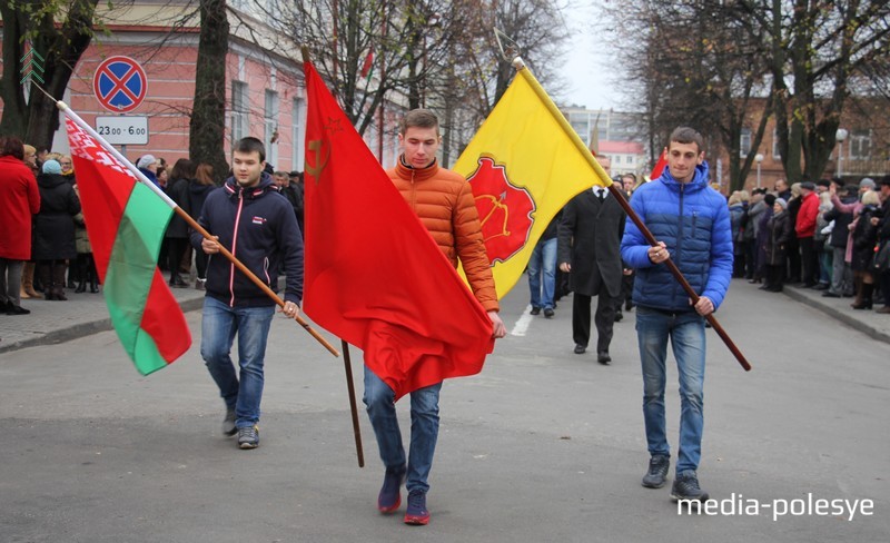
[[[665,358],[671,339],[680,378],[676,476],[671,496],[708,500],[699,486],[704,387],[704,317],[720,307],[732,277],[732,229],[725,198],[708,185],[702,136],[688,127],[671,134],[668,167],[641,186],[631,207],[659,240],[650,246],[629,218],[621,257],[636,270],[633,303],[643,366],[643,417],[651,455],[643,486],[664,486],[670,466],[664,418]],[[671,258],[699,295],[693,306],[671,275]]]

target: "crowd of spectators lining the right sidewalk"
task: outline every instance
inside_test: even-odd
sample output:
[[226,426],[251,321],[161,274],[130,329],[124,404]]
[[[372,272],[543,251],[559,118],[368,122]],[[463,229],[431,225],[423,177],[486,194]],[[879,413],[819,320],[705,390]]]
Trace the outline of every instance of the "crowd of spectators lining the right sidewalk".
[[890,314],[890,176],[876,182],[780,179],[773,190],[729,197],[734,277],[768,292],[785,285],[851,297],[853,309]]

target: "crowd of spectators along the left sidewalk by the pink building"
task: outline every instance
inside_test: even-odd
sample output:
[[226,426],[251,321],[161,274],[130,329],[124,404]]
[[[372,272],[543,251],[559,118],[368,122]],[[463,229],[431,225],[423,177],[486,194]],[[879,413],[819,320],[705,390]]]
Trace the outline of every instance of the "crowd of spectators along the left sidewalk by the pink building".
[[[135,165],[196,219],[208,194],[218,188],[208,164],[182,158],[169,167],[162,158],[144,155]],[[275,187],[289,201],[301,231],[303,174],[276,171]],[[22,300],[68,300],[67,292],[100,292],[70,156],[0,138],[0,314],[29,315]],[[188,236],[186,221],[174,215],[158,265],[169,274],[170,287],[186,288],[191,284],[184,277],[191,277],[194,263],[194,286],[202,290],[207,255],[194,250]]]

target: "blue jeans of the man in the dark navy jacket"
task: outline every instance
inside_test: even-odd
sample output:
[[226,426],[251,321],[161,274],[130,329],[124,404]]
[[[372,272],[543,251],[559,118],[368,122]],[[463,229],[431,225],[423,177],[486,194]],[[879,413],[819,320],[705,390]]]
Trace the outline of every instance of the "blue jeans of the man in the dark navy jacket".
[[[204,298],[201,357],[219,386],[226,407],[235,409],[235,425],[239,428],[259,422],[263,365],[274,315],[275,306],[229,307],[210,296]],[[240,383],[230,356],[236,333]]]

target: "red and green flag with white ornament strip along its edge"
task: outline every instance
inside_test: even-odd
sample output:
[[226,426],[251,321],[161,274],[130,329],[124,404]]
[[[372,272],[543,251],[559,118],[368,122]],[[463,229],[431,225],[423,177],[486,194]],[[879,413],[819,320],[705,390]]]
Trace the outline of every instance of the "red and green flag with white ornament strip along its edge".
[[148,375],[191,345],[186,317],[158,270],[174,211],[73,120],[67,118],[66,127],[111,324],[136,368]]

